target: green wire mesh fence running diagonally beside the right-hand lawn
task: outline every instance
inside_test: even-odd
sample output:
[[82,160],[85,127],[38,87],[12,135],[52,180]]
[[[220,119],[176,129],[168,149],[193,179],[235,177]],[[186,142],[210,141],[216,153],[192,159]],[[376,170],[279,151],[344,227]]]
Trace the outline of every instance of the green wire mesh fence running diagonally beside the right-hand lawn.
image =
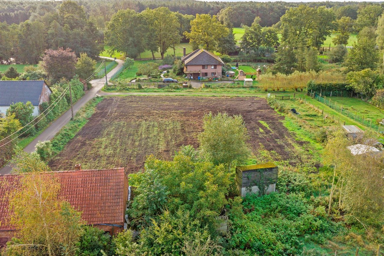
[[376,130],[377,132],[384,132],[384,126],[381,123],[372,123],[372,119],[368,118],[367,116],[364,116],[363,114],[358,114],[357,111],[354,111],[349,107],[344,107],[342,104],[338,104],[337,101],[333,101],[327,96],[323,96],[321,94],[318,94],[317,92],[313,92],[311,96],[313,99],[316,99],[317,101],[325,104],[331,109],[334,109],[336,112],[339,112],[340,114],[343,114],[344,116],[353,119],[354,121],[362,124],[363,126],[369,127],[373,130]]

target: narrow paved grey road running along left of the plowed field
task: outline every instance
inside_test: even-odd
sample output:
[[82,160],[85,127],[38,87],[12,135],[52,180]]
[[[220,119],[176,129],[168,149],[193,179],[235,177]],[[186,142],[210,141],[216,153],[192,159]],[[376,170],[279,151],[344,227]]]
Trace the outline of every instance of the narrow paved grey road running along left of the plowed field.
[[[113,58],[108,58],[108,57],[101,57],[105,59],[113,59]],[[118,71],[119,68],[121,68],[122,64],[124,61],[117,59],[118,65],[112,69],[108,74],[107,74],[107,79],[110,79],[116,71]],[[100,79],[93,79],[90,81],[92,84],[92,89],[86,92],[86,94],[81,97],[74,105],[73,105],[73,114],[76,114],[76,112],[83,107],[90,99],[96,96],[98,92],[103,88],[105,84],[105,76]],[[66,111],[62,116],[60,116],[58,119],[56,119],[55,122],[53,122],[48,128],[46,128],[40,135],[36,137],[30,144],[28,144],[24,151],[26,152],[34,152],[35,151],[35,146],[37,142],[39,141],[44,141],[44,140],[51,140],[55,135],[63,128],[69,121],[71,120],[71,109]],[[3,168],[0,169],[0,174],[7,174],[10,173],[12,170],[12,166],[10,165],[5,165]]]

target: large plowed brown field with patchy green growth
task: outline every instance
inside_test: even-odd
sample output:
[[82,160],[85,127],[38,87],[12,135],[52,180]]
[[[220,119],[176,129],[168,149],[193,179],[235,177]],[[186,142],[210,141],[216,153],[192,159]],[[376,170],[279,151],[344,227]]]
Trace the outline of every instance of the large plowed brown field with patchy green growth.
[[52,170],[70,170],[74,164],[82,164],[83,168],[125,167],[128,173],[137,172],[147,155],[170,159],[182,145],[197,147],[202,117],[210,111],[241,114],[253,152],[263,145],[281,159],[290,159],[297,141],[265,99],[127,96],[100,102],[89,122],[49,165]]

